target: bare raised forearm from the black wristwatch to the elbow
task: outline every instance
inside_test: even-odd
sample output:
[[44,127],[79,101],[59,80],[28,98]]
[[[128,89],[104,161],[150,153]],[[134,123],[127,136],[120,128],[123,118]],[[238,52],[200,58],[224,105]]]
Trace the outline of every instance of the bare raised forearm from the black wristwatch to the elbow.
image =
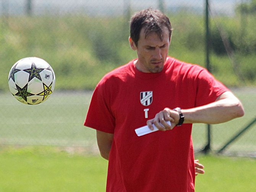
[[182,110],[184,123],[218,124],[244,115],[241,102],[236,98],[221,98],[208,105]]

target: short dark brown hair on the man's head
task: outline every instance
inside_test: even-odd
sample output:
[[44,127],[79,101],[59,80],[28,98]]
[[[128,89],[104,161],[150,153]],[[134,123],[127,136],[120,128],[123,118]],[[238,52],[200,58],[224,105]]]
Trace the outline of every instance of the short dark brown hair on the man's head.
[[145,9],[135,13],[130,21],[130,37],[138,46],[139,34],[145,27],[145,38],[151,32],[156,32],[159,38],[163,39],[163,27],[169,30],[169,36],[172,35],[172,26],[169,18],[159,10]]

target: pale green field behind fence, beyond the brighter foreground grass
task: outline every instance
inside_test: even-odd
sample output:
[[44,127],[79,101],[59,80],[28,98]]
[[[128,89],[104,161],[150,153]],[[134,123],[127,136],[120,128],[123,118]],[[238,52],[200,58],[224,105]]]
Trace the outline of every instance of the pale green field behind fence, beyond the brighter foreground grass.
[[[217,150],[256,118],[256,89],[233,90],[245,107],[245,116],[212,126],[212,149]],[[10,93],[0,94],[0,144],[84,146],[95,150],[95,131],[83,126],[92,92],[54,92],[36,106],[19,103]],[[194,124],[196,149],[206,144],[206,125]],[[256,151],[256,129],[251,127],[228,150]]]

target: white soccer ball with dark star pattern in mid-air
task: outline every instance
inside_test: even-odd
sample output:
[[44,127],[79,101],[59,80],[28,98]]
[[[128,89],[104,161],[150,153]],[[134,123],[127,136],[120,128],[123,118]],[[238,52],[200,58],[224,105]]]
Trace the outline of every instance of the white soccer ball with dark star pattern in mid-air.
[[55,86],[51,66],[37,57],[23,58],[11,68],[8,78],[11,94],[20,102],[36,105],[47,100]]

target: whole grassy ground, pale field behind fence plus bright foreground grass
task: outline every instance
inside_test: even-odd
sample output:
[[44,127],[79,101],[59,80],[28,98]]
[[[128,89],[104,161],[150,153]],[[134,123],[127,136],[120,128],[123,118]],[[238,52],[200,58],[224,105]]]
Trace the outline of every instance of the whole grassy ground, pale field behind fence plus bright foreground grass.
[[[233,92],[243,102],[245,117],[212,126],[213,150],[255,118],[255,88]],[[0,191],[105,191],[107,161],[99,156],[95,131],[83,126],[91,94],[55,92],[36,106],[19,103],[9,93],[0,94]],[[206,143],[205,130],[203,124],[193,127],[196,149]],[[255,125],[227,150],[255,154],[254,136]],[[256,190],[255,158],[196,158],[206,171],[204,176],[196,177],[197,192]]]

